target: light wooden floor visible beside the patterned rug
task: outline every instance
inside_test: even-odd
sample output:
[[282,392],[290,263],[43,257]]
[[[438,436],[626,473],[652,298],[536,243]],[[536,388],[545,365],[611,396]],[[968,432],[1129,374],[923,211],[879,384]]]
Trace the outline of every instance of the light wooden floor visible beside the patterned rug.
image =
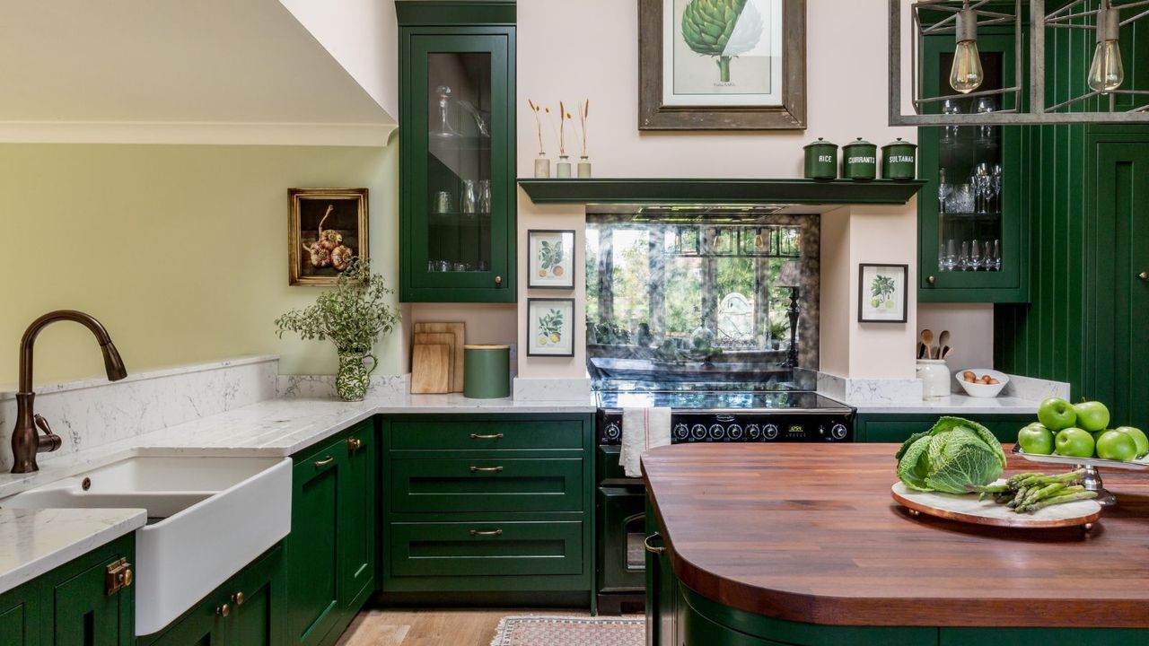
[[355,617],[336,646],[489,646],[507,615],[588,615],[586,610],[375,608]]

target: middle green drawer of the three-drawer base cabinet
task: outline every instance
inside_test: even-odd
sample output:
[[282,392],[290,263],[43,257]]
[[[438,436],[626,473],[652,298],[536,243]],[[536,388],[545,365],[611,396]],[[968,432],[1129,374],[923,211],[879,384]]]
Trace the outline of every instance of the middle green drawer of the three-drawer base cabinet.
[[395,459],[393,513],[581,512],[583,459]]

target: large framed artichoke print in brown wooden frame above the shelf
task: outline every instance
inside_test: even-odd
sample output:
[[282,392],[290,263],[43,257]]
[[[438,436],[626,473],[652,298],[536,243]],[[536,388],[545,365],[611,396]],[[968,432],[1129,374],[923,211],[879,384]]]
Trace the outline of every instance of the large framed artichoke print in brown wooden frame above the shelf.
[[639,0],[639,130],[804,130],[805,0]]

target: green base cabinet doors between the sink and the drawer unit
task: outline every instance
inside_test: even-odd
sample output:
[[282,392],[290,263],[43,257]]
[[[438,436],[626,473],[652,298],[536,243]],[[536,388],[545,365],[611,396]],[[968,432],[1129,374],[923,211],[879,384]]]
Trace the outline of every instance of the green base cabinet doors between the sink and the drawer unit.
[[375,592],[375,438],[368,421],[293,456],[286,539],[293,644],[332,644]]

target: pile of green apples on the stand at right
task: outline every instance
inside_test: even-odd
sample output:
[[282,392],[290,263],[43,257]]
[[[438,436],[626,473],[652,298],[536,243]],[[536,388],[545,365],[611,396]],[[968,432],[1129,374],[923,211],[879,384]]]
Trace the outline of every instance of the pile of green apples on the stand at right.
[[1109,408],[1104,403],[1070,403],[1051,397],[1038,407],[1038,421],[1017,433],[1017,443],[1021,451],[1035,455],[1129,462],[1149,454],[1149,437],[1141,429],[1108,426]]

